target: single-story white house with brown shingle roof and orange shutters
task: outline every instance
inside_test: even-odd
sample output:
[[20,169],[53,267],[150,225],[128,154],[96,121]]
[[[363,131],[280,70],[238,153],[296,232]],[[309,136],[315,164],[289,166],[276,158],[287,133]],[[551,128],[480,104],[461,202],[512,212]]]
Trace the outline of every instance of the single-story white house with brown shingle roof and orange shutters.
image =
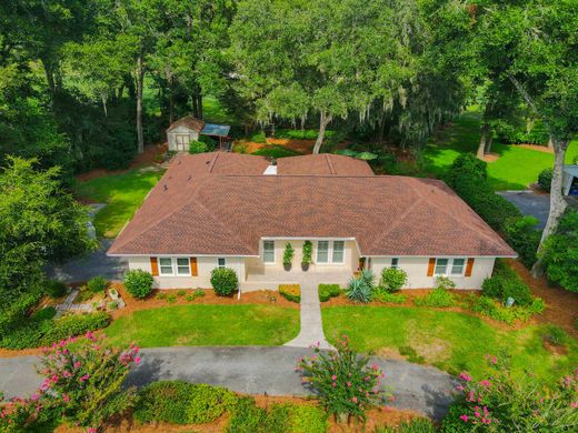
[[[312,264],[303,271],[306,241]],[[108,254],[162,289],[210,288],[211,271],[227,266],[243,291],[307,273],[346,284],[361,268],[379,275],[389,266],[408,273],[407,289],[431,288],[437,275],[480,289],[496,258],[517,255],[439,180],[375,175],[366,161],[337,154],[275,163],[223,152],[177,157]]]

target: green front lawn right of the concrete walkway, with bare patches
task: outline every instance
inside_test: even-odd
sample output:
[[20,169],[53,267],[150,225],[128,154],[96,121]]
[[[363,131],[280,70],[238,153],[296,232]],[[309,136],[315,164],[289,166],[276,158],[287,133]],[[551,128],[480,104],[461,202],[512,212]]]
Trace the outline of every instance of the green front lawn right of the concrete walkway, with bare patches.
[[542,380],[557,379],[578,364],[578,342],[568,338],[568,354],[554,355],[542,345],[544,326],[501,331],[467,314],[417,308],[332,306],[323,308],[323,330],[330,342],[349,335],[352,346],[363,353],[387,354],[387,350],[413,348],[426,362],[450,373],[484,371],[485,355],[510,354],[517,372],[532,369]]

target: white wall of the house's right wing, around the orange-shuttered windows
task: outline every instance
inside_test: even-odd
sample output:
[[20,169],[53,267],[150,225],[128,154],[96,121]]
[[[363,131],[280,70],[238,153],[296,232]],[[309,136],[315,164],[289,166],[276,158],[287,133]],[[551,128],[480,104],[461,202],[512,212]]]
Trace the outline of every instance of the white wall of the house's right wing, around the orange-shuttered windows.
[[[403,289],[430,289],[436,284],[435,276],[428,276],[429,258],[399,256],[398,268],[408,274],[408,283]],[[467,261],[467,258],[465,258]],[[495,258],[475,258],[471,276],[449,278],[457,289],[481,289],[481,283],[491,276]],[[383,268],[391,266],[391,258],[371,258],[371,270],[379,279]]]

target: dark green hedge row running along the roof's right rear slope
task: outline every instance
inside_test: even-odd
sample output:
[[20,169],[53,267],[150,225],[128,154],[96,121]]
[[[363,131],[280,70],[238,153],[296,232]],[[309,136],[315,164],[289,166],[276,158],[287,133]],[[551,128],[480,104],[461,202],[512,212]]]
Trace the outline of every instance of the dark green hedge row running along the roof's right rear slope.
[[530,268],[536,261],[540,234],[534,229],[538,222],[524,218],[508,200],[494,192],[487,180],[486,162],[471,153],[459,155],[446,178],[448,184],[494,230],[516,249],[522,263]]

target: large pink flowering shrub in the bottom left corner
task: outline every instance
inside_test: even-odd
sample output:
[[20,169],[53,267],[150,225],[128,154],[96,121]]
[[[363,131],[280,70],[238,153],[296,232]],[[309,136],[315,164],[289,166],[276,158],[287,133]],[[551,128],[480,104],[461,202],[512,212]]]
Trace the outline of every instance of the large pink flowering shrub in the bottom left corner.
[[104,339],[89,332],[81,341],[69,338],[46,348],[37,367],[44,377],[40,389],[2,409],[0,432],[30,429],[47,417],[97,432],[107,419],[126,410],[134,392],[123,391],[122,383],[130,366],[140,362],[139,348],[110,348]]

